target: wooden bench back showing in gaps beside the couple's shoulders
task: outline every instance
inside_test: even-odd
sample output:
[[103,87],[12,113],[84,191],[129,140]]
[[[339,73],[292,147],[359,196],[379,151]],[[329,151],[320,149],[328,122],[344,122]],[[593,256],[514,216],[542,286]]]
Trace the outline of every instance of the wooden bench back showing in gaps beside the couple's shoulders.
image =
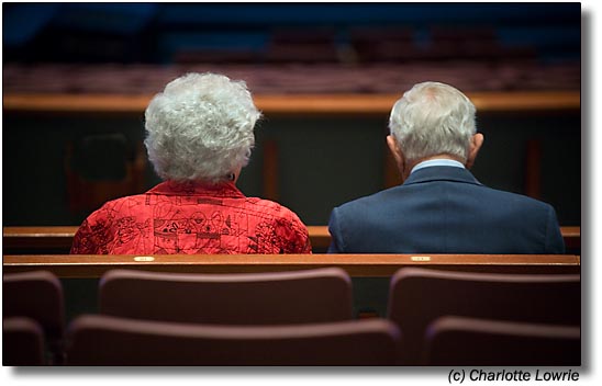
[[[4,227],[2,248],[4,253],[68,253],[77,226]],[[568,250],[581,246],[581,227],[560,227]],[[309,226],[314,252],[325,252],[331,243],[326,226]]]

